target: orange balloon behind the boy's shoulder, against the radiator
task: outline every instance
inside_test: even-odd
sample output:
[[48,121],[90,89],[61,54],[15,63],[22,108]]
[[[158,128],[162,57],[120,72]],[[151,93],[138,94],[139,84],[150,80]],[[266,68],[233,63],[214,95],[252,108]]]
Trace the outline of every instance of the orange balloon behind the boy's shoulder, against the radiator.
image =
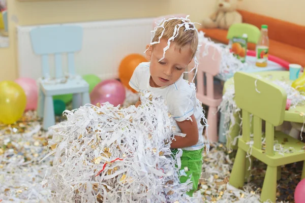
[[141,62],[147,62],[147,59],[141,54],[130,54],[121,60],[118,67],[118,77],[123,85],[133,92],[136,92],[129,86],[129,81],[136,67]]

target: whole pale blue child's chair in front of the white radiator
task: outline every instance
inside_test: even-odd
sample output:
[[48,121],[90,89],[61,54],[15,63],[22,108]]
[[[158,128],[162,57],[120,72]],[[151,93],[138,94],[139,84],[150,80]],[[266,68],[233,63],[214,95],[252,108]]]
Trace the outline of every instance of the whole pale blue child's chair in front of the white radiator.
[[[37,114],[43,129],[55,124],[53,95],[73,94],[72,107],[90,103],[89,85],[75,74],[74,53],[81,50],[83,30],[75,25],[41,26],[30,32],[33,50],[42,59],[42,78],[38,79]],[[55,76],[50,76],[49,55],[55,58]],[[68,57],[68,75],[63,74],[62,55]]]

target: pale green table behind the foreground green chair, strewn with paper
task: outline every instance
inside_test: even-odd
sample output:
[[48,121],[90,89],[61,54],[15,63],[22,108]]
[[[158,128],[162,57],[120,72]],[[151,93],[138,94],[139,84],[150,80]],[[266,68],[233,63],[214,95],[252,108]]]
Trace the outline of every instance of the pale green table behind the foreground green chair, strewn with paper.
[[[289,80],[289,71],[268,71],[268,72],[258,72],[258,73],[252,73],[253,75],[261,76],[262,78],[267,78],[270,81],[280,80],[285,81],[288,84],[291,84],[293,81]],[[223,88],[223,94],[225,94],[226,90],[228,88],[232,88],[234,78],[228,79]],[[285,111],[285,117],[284,121],[290,121],[290,122],[296,122],[296,123],[303,123],[304,117],[302,116],[302,113],[305,114],[305,105],[299,105],[295,108],[290,108],[289,110]],[[234,139],[236,136],[238,136],[239,132],[239,123],[240,119],[238,118],[238,115],[235,115],[236,124],[233,126],[232,131],[230,133],[230,136],[232,139]],[[227,141],[227,147],[230,145],[231,141]],[[235,147],[234,147],[235,148]],[[233,148],[233,149],[234,149]]]

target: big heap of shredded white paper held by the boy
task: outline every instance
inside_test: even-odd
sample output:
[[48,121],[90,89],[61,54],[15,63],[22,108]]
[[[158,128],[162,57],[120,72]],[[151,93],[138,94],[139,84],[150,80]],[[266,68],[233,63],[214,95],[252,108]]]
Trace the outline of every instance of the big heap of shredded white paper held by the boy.
[[140,97],[139,108],[105,103],[66,111],[67,121],[50,128],[54,161],[43,184],[52,201],[195,201],[186,195],[190,180],[179,183],[182,153],[171,156],[175,121],[165,101],[147,91]]

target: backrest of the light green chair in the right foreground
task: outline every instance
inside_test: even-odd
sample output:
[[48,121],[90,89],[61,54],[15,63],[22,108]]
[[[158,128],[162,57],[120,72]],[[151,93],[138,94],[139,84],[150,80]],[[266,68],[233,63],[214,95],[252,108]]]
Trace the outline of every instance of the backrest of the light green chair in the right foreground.
[[266,154],[273,155],[274,126],[284,120],[287,93],[254,75],[234,74],[235,101],[242,110],[242,139],[250,140],[250,114],[254,119],[254,147],[261,149],[262,120],[266,121]]

